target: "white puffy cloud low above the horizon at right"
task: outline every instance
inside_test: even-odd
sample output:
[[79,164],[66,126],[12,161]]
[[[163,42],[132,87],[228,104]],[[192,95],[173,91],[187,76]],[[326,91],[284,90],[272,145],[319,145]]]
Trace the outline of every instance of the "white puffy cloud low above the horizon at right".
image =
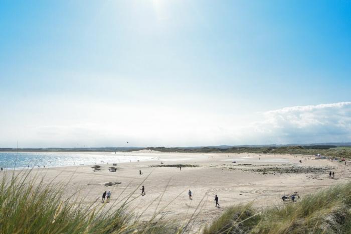
[[265,143],[351,141],[351,102],[285,107],[262,115],[250,128]]

